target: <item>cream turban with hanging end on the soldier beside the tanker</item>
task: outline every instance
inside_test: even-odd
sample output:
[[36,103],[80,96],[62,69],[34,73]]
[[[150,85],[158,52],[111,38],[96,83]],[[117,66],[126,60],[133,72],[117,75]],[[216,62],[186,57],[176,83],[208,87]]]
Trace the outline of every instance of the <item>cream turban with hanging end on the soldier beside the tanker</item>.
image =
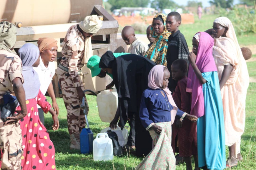
[[[79,27],[86,33],[95,34],[102,27],[102,21],[98,18],[97,15],[90,15],[84,18],[84,21],[81,21]],[[91,37],[85,37],[84,42],[84,57],[82,64],[86,64],[89,60],[89,57],[92,56],[92,42]]]

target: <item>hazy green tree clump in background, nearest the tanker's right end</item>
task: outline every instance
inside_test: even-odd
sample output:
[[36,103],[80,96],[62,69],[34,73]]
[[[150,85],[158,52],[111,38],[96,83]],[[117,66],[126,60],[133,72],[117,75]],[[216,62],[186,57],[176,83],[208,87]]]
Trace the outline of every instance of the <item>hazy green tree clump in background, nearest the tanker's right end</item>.
[[108,0],[112,5],[111,10],[120,9],[122,7],[147,7],[150,0]]

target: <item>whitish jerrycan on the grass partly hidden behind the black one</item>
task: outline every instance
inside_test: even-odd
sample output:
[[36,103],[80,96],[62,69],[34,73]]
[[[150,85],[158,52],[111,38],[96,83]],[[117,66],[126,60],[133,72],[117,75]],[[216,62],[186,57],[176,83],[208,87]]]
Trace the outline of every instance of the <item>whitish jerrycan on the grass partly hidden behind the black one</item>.
[[117,137],[118,137],[118,143],[120,144],[120,146],[124,146],[127,143],[127,139],[128,139],[128,130],[127,130],[128,126],[125,126],[123,128],[123,130],[121,130],[120,127],[117,126],[116,129],[111,129],[110,127],[106,127],[103,130],[101,130],[101,133],[107,133],[108,130],[112,130],[113,132],[116,132]]

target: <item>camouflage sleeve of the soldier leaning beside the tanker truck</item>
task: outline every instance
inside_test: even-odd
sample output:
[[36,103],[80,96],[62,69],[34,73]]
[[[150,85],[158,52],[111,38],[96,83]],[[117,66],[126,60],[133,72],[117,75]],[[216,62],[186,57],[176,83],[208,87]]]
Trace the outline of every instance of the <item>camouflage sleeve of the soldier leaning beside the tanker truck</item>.
[[75,87],[83,86],[82,79],[78,74],[77,64],[80,57],[79,46],[80,41],[77,39],[70,40],[67,43],[67,54],[69,56],[69,75],[72,77]]

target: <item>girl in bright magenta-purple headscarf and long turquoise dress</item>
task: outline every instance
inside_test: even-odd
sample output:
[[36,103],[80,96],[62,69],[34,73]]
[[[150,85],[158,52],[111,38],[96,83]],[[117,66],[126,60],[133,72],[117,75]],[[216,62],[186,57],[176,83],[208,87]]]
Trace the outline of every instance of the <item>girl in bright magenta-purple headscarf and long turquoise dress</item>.
[[198,166],[222,170],[225,164],[225,127],[217,68],[212,57],[212,37],[198,32],[189,53],[187,92],[192,93],[191,115],[197,120]]

